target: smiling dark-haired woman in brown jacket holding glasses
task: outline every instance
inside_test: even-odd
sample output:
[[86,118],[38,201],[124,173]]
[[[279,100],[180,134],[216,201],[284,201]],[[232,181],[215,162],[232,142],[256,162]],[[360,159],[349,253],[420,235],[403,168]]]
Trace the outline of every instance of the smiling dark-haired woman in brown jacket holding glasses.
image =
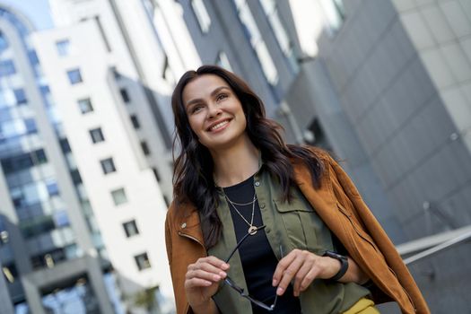
[[172,109],[180,153],[166,242],[178,313],[378,313],[372,300],[429,312],[345,172],[285,144],[239,77],[188,71]]

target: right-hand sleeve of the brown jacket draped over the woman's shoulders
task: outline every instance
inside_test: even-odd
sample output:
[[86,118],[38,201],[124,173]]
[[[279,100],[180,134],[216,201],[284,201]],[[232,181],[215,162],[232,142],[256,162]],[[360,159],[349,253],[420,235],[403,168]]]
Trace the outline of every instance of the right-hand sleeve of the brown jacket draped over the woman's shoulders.
[[382,229],[375,216],[371,213],[371,210],[362,200],[362,196],[360,196],[357,188],[354,186],[352,179],[348,177],[345,170],[343,170],[332,157],[329,156],[328,158],[336,179],[353,205],[354,214],[358,216],[365,230],[370,234],[375,245],[378,246],[379,250],[384,255],[390,269],[397,275],[399,283],[401,283],[411,301],[413,301],[416,312],[430,313],[423,299],[423,295],[404,264],[402,257],[397,253],[396,247],[392,241],[389,240],[386,232]]

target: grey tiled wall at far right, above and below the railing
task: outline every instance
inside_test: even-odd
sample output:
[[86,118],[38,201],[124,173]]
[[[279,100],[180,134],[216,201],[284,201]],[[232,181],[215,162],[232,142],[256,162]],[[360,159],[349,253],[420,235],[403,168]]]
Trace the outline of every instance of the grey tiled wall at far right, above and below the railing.
[[[407,238],[470,224],[468,2],[345,1],[345,9],[319,54]],[[466,251],[411,266],[432,312],[467,310]]]

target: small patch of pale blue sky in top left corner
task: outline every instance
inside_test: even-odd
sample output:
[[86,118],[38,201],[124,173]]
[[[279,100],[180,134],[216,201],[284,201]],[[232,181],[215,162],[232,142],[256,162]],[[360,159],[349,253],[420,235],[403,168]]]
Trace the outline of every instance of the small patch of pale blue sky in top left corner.
[[6,4],[26,15],[37,30],[47,30],[53,26],[48,0],[0,0],[0,4]]

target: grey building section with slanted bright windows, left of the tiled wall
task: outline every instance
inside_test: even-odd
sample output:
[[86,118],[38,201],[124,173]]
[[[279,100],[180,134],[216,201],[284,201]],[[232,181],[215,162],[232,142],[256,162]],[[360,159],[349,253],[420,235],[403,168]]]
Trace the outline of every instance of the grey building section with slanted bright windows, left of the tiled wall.
[[[321,102],[314,98],[318,97],[313,95],[318,80],[306,66],[312,64],[317,49],[304,51],[306,40],[298,34],[299,21],[294,19],[292,4],[271,0],[179,3],[203,63],[222,65],[246,79],[264,100],[267,116],[284,126],[288,142],[316,144],[348,159],[346,167],[368,203],[376,208],[388,234],[397,242],[405,241],[393,205],[379,187],[378,175],[352,126],[345,114],[339,112],[338,101]],[[319,30],[322,6],[308,3],[308,8],[302,10],[310,22],[301,31]],[[311,41],[310,46],[315,46],[315,38]],[[325,109],[320,107],[322,104],[330,107]]]

